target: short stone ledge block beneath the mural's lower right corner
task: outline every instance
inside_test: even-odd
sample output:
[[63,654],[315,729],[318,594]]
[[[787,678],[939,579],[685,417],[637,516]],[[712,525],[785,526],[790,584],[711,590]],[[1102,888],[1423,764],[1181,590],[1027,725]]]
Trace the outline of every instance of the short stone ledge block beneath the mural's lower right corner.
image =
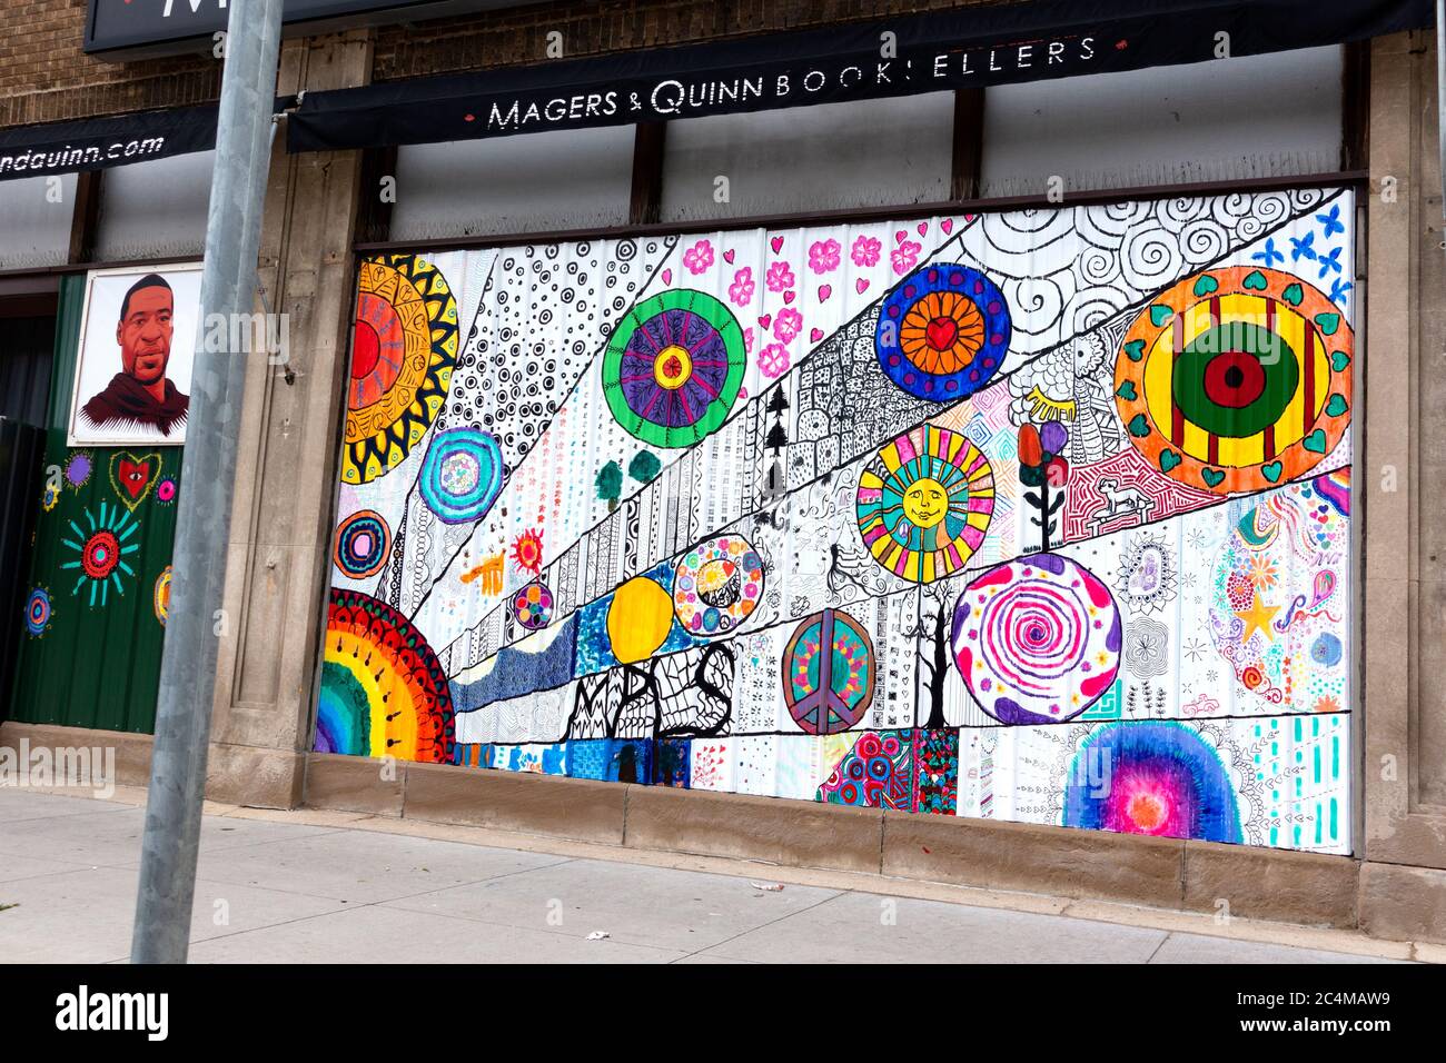
[[1356,926],[1359,865],[1348,856],[1184,843],[1184,907],[1306,926]]

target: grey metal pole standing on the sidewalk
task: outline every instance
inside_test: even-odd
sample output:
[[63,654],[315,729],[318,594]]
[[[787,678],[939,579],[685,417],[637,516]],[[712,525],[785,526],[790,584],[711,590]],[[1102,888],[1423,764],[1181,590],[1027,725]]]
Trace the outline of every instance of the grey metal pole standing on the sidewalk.
[[[221,631],[218,610],[246,370],[241,353],[230,347],[252,321],[254,309],[281,9],[282,0],[230,0],[227,16],[215,171],[201,273],[201,321],[181,464],[171,613],[161,657],[150,795],[130,944],[133,963],[184,963],[191,939]],[[208,328],[223,321],[224,328]],[[233,323],[239,324],[233,327]],[[221,331],[227,340],[215,343]]]

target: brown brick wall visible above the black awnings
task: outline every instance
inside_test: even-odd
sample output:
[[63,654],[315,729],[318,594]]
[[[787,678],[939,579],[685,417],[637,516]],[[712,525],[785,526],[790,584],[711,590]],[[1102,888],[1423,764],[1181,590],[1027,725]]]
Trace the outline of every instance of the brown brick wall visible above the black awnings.
[[[591,0],[544,3],[376,30],[373,80],[857,22],[1001,0]],[[214,100],[210,55],[104,62],[81,51],[85,0],[0,0],[0,127]]]

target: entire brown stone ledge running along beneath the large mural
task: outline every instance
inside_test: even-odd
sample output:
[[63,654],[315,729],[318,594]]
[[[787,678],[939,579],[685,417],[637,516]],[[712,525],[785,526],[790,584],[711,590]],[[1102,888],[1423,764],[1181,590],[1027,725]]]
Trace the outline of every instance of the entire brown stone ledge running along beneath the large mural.
[[[382,778],[376,761],[324,754],[307,761],[309,807],[398,814],[398,784]],[[1364,872],[1345,856],[529,772],[399,767],[401,814],[409,820],[1176,911],[1213,913],[1225,897],[1241,918],[1330,927],[1356,926],[1358,911],[1365,926],[1369,900],[1374,936],[1446,940],[1446,872],[1365,865],[1375,869],[1374,892],[1362,884],[1358,895]],[[1420,911],[1421,882],[1432,897],[1440,891],[1436,908]]]

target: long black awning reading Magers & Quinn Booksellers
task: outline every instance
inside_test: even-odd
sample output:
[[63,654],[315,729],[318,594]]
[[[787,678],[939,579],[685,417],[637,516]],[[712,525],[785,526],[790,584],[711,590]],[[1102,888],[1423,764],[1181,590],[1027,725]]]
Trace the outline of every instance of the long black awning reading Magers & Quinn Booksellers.
[[[308,93],[288,150],[469,140],[1259,55],[1434,23],[1432,0],[1037,0]],[[895,35],[892,54],[884,35]],[[1223,35],[1223,36],[1222,36]],[[482,61],[482,56],[479,56]],[[1262,100],[1262,104],[1267,103]]]

